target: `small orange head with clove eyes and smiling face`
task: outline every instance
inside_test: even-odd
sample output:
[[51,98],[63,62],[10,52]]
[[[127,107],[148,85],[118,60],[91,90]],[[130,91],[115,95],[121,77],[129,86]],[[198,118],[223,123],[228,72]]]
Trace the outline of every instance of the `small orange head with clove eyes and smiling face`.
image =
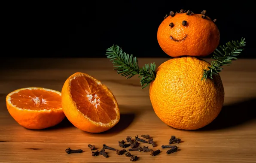
[[165,18],[158,27],[158,44],[171,57],[211,54],[219,45],[219,29],[201,14],[176,13]]

